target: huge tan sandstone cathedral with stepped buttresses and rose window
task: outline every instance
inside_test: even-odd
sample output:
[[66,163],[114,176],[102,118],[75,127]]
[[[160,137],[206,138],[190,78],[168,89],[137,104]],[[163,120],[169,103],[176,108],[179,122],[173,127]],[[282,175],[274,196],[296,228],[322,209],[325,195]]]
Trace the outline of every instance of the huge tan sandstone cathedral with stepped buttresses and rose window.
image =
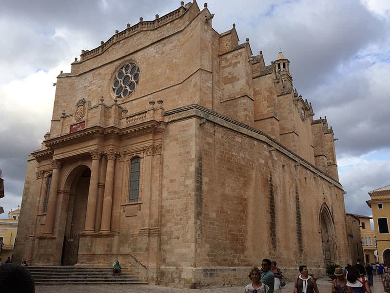
[[57,77],[27,164],[15,258],[111,266],[152,284],[247,283],[349,259],[333,131],[235,25],[194,0],[127,25]]

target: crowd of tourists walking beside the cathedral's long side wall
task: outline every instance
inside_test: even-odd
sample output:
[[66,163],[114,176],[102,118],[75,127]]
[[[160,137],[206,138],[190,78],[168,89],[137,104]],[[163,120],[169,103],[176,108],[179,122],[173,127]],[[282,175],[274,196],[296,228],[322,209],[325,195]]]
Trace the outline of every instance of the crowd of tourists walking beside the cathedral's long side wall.
[[[294,293],[319,293],[315,278],[309,275],[307,266],[299,266],[299,273],[294,280]],[[384,292],[390,293],[390,267],[386,264],[366,263],[363,266],[361,260],[357,259],[353,266],[348,264],[344,269],[335,268],[333,274],[335,278],[331,293],[371,293],[375,274],[381,278]],[[245,286],[245,293],[281,293],[286,284],[276,262],[269,259],[263,259],[261,269],[253,268],[248,276],[252,283]]]

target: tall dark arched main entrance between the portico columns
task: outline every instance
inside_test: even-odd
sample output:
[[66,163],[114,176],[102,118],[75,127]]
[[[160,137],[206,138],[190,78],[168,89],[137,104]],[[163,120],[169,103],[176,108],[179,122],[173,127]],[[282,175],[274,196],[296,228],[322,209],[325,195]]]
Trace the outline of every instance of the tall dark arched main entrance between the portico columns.
[[86,166],[78,166],[72,173],[71,175],[74,178],[69,194],[61,258],[62,266],[72,266],[77,263],[79,235],[84,230],[89,181],[91,179],[91,170]]

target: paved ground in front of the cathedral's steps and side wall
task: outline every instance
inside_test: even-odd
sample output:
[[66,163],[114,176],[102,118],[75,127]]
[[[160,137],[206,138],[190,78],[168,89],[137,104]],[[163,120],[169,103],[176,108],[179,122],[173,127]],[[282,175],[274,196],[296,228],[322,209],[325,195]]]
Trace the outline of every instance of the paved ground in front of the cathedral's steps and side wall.
[[[320,293],[331,293],[331,281],[328,278],[317,280]],[[293,283],[287,282],[282,293],[293,293]],[[382,287],[381,287],[382,288]],[[244,286],[223,286],[207,287],[200,289],[172,288],[154,285],[59,285],[59,286],[37,286],[36,293],[244,293]],[[382,293],[372,292],[372,293]]]

